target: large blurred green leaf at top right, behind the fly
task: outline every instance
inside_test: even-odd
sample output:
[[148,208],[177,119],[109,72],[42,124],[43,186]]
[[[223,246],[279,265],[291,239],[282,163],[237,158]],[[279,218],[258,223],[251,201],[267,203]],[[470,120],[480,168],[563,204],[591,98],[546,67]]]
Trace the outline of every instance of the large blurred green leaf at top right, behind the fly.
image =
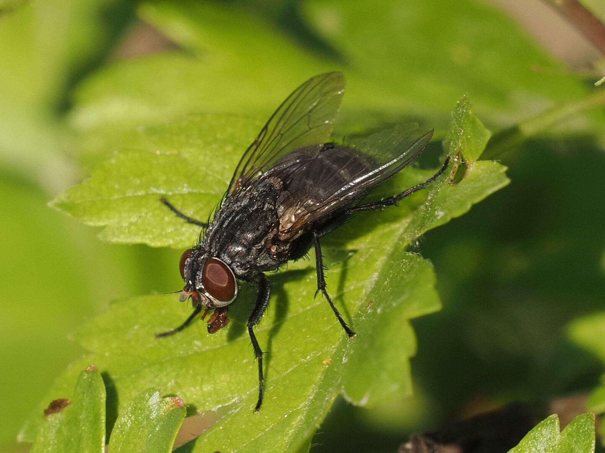
[[502,126],[589,92],[495,5],[310,0],[302,9],[350,66],[391,93],[391,105],[417,115],[448,111],[468,93],[481,118]]

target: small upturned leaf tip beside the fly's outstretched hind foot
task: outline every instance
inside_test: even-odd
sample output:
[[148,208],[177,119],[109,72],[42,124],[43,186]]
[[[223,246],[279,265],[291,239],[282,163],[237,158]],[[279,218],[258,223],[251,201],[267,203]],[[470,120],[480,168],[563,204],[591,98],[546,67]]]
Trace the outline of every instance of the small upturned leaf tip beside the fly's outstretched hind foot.
[[473,115],[468,97],[462,97],[452,114],[450,130],[443,143],[447,153],[450,156],[462,153],[467,162],[474,162],[481,156],[489,137],[491,132]]

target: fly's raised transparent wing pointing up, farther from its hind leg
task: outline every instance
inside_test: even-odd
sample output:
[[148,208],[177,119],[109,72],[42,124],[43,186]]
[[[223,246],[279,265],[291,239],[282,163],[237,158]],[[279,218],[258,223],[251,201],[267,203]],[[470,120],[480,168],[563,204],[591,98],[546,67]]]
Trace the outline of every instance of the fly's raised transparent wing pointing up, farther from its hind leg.
[[242,156],[227,196],[270,169],[292,150],[330,139],[344,93],[342,72],[312,77],[286,98]]

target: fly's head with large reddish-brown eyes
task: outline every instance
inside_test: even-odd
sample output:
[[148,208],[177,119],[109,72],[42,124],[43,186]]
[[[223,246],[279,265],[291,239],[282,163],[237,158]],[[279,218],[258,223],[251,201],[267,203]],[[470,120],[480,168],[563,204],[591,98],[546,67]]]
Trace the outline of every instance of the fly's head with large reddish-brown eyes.
[[180,260],[181,277],[185,288],[180,300],[191,297],[194,307],[202,304],[208,308],[225,307],[237,298],[235,274],[227,263],[208,255],[203,248],[190,248]]

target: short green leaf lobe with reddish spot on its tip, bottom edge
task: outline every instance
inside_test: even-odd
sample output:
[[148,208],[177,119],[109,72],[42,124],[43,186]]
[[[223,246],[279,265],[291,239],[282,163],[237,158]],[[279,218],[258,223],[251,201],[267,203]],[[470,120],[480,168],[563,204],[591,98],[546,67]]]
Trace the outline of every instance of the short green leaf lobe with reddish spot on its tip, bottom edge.
[[170,453],[185,415],[183,401],[162,398],[159,388],[150,388],[136,396],[118,417],[109,451]]

